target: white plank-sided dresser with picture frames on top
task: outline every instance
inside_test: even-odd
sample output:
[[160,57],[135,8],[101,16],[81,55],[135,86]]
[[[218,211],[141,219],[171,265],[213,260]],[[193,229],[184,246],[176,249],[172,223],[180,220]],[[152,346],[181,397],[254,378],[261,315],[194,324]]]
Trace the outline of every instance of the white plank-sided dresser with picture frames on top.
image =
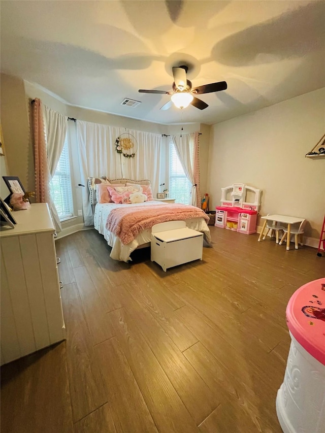
[[47,203],[1,227],[1,364],[66,338],[54,225]]

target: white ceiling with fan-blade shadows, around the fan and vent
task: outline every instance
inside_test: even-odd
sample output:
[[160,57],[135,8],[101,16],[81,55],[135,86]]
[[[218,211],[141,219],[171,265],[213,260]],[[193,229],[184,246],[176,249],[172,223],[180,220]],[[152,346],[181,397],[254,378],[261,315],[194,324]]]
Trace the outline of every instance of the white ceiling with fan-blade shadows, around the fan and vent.
[[[184,63],[193,87],[228,89],[198,95],[202,111],[138,92],[171,90]],[[75,106],[214,124],[325,86],[325,2],[1,1],[1,71]]]

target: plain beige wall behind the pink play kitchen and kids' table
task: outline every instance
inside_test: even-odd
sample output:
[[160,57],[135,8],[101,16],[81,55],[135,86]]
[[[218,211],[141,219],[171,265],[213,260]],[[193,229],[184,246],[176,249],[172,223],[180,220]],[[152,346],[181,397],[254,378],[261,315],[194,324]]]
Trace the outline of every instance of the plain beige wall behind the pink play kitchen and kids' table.
[[[325,88],[213,125],[208,166],[211,205],[235,182],[263,190],[261,214],[305,217],[319,238],[325,212],[325,159],[305,158],[325,132]],[[211,209],[211,206],[210,206]]]

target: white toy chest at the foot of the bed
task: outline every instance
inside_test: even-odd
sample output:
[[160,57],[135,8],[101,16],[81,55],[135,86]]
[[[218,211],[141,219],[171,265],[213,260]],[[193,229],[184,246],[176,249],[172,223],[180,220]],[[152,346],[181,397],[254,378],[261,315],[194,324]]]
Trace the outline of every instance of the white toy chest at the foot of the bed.
[[203,233],[186,227],[185,221],[155,224],[151,231],[151,261],[166,272],[179,264],[202,260]]

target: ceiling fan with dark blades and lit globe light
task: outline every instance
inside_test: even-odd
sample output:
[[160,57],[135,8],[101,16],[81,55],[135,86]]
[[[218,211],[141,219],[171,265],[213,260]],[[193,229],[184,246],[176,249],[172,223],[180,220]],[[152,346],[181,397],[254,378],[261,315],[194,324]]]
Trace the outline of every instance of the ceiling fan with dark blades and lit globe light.
[[204,84],[203,86],[192,88],[192,83],[187,80],[186,73],[188,67],[185,65],[173,67],[173,90],[144,90],[140,89],[140,93],[158,93],[158,94],[168,94],[172,95],[171,101],[168,101],[160,110],[168,110],[172,103],[178,108],[185,108],[189,104],[193,105],[199,110],[204,110],[209,107],[202,99],[197,98],[193,95],[198,95],[202,93],[212,93],[219,92],[220,90],[225,90],[227,88],[227,83],[225,81],[219,81],[217,83]]

